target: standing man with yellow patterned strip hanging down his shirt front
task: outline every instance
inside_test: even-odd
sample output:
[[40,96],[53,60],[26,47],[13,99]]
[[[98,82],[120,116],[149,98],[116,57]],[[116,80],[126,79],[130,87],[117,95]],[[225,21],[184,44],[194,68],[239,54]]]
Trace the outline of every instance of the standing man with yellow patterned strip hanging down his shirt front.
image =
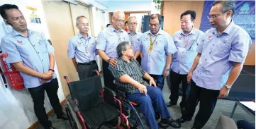
[[177,49],[171,35],[160,28],[162,17],[160,14],[150,16],[150,30],[143,33],[140,38],[140,47],[136,51],[135,59],[143,54],[141,66],[150,73],[157,82],[157,87],[162,90],[165,77],[169,74],[172,54]]

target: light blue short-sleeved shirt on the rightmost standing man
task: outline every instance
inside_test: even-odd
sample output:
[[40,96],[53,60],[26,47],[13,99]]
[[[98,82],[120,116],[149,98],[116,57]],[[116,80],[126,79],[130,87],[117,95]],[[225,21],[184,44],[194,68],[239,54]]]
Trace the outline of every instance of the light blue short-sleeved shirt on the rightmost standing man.
[[207,30],[197,48],[201,58],[192,75],[196,85],[221,90],[228,80],[233,62],[245,61],[250,44],[250,35],[233,21],[220,35],[216,28]]

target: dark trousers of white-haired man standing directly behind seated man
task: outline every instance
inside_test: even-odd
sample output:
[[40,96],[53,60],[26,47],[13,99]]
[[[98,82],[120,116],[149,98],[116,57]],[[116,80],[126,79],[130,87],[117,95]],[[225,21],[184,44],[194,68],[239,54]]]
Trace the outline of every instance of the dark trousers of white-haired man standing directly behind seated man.
[[108,69],[108,66],[109,64],[106,61],[102,61],[104,85],[112,90],[116,90],[116,86],[113,84],[114,78],[111,71]]

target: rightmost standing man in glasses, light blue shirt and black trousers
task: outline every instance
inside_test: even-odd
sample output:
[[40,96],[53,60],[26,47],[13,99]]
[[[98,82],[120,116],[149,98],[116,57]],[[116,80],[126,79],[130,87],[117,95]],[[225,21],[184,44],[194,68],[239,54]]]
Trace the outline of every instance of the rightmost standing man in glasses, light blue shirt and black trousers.
[[208,18],[213,28],[205,32],[197,48],[198,54],[187,77],[191,91],[177,122],[190,121],[200,101],[193,128],[203,128],[217,99],[227,97],[238,78],[252,40],[233,22],[234,11],[235,1],[215,1],[211,6]]

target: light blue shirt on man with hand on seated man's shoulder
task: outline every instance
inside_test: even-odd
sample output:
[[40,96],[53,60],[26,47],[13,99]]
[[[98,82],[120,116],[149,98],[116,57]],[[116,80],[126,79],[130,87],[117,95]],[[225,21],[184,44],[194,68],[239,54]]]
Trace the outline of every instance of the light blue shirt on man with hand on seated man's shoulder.
[[105,51],[109,58],[116,59],[118,58],[116,47],[123,41],[130,42],[127,32],[123,29],[116,32],[113,26],[109,25],[99,33],[96,49]]

